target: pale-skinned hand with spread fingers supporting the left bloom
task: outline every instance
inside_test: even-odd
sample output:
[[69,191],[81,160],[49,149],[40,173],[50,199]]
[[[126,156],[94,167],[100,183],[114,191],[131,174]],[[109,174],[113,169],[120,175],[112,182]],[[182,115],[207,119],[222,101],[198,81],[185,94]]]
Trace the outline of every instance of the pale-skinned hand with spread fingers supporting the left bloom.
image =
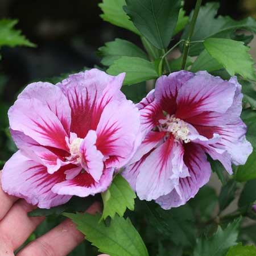
[[[25,200],[3,192],[0,171],[0,255],[14,256],[14,251],[44,220],[44,217],[28,217],[27,212],[32,209],[35,207]],[[99,203],[92,204],[87,210],[91,214],[99,211]],[[82,241],[84,241],[84,234],[80,233],[75,224],[67,219],[42,237],[28,243],[17,256],[66,256]]]

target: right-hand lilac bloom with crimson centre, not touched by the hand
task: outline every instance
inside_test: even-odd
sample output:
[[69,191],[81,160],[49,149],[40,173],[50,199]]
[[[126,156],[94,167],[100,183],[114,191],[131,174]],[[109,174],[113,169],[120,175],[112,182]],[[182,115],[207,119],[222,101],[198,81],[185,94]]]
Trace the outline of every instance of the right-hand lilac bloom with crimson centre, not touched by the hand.
[[122,174],[142,200],[164,209],[183,205],[209,181],[207,154],[229,174],[231,163],[244,164],[251,154],[236,77],[171,73],[137,107],[144,139]]

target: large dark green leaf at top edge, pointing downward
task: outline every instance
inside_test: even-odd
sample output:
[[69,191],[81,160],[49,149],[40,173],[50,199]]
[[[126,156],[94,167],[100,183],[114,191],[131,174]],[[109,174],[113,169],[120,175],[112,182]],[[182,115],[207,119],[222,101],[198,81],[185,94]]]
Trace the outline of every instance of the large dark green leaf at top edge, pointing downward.
[[124,7],[135,27],[156,48],[168,47],[181,6],[180,0],[126,0]]

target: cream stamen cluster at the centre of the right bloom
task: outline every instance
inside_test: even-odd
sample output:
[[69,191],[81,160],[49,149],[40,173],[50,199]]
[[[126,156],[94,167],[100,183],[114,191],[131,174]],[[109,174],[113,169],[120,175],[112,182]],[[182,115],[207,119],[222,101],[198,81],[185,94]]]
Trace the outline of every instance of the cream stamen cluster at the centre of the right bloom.
[[174,135],[174,138],[177,141],[181,140],[184,143],[190,142],[188,139],[189,129],[187,124],[179,118],[176,118],[175,115],[166,115],[166,119],[159,120],[159,130],[166,131]]

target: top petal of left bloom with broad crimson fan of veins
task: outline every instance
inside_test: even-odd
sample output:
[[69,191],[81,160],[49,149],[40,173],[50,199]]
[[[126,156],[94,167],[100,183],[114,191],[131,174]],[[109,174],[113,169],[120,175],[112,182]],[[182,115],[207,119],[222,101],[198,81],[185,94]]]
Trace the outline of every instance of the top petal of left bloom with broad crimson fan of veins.
[[56,84],[68,98],[71,107],[71,131],[84,138],[96,130],[102,110],[112,100],[124,100],[120,91],[125,73],[110,76],[98,69],[80,72]]

